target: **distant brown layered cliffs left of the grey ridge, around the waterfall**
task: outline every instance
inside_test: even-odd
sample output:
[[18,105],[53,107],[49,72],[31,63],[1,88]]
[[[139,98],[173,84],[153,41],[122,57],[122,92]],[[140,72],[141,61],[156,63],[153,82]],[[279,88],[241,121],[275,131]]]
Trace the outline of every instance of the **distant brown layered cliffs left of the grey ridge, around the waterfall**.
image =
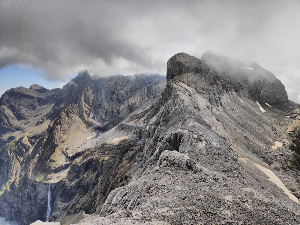
[[141,160],[146,125],[128,124],[125,131],[122,121],[156,101],[164,87],[162,76],[99,78],[85,71],[61,90],[6,91],[0,116],[13,123],[2,127],[1,215],[25,224],[44,220],[49,183],[52,219],[99,212]]

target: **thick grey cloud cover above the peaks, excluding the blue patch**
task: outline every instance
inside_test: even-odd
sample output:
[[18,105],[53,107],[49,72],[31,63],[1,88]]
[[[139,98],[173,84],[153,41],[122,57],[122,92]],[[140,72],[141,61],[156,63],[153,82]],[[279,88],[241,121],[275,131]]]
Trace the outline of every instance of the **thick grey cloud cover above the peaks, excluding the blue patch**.
[[300,103],[298,0],[0,1],[0,70],[22,64],[49,82],[165,75],[174,54],[207,49],[256,61]]

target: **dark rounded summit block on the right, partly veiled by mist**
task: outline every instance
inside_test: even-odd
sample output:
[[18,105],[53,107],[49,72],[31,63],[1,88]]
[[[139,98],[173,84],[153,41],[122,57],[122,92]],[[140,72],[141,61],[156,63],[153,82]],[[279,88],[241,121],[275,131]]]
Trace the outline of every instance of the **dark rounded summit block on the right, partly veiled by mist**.
[[210,98],[211,93],[218,98],[220,93],[233,89],[239,95],[271,105],[288,100],[284,85],[268,70],[255,62],[244,65],[211,51],[206,51],[201,60],[185,53],[174,55],[167,63],[167,81],[170,79],[184,82],[199,93],[205,91]]

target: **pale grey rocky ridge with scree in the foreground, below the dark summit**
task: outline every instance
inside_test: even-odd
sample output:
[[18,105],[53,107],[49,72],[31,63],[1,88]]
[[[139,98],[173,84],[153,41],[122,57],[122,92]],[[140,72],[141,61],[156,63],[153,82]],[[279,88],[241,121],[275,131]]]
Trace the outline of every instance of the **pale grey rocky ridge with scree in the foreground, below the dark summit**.
[[[180,57],[189,58],[180,53],[168,65],[185,61]],[[196,60],[192,58],[191,64]],[[147,128],[142,173],[110,193],[102,217],[83,224],[299,223],[299,205],[282,195],[276,184],[267,182],[268,177],[255,166],[273,170],[297,194],[298,188],[291,187],[298,183],[287,178],[299,176],[297,163],[291,170],[285,168],[287,173],[278,165],[299,156],[283,146],[280,151],[289,156],[274,157],[278,154],[271,148],[275,140],[290,140],[284,130],[289,107],[268,107],[266,114],[273,116],[264,116],[255,102],[245,98],[249,94],[246,85],[241,86],[244,95],[228,80],[223,91],[216,91],[218,79],[224,77],[211,72],[217,80],[216,85],[211,82],[211,93],[220,97],[222,105],[218,105],[196,88],[209,86],[208,80],[203,84],[197,79],[201,76],[197,71],[203,69],[185,68],[173,72],[170,66],[168,70],[161,109]]]

